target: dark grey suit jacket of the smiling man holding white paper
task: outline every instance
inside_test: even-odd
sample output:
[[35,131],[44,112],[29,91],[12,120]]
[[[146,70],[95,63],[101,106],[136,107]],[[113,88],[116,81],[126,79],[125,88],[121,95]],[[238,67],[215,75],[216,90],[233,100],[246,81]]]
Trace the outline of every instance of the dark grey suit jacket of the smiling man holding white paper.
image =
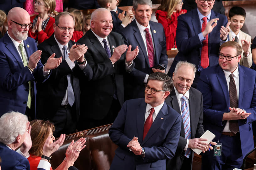
[[[177,96],[175,94],[175,90],[173,90],[170,96],[165,101],[169,106],[171,106],[176,112],[181,115],[180,106],[177,100]],[[190,129],[191,129],[191,139],[200,138],[201,135],[205,132],[203,123],[203,96],[202,93],[195,88],[189,89],[189,118],[190,118]],[[181,123],[180,137],[178,148],[173,159],[167,161],[167,169],[180,170],[183,160],[184,160],[184,148],[187,144],[187,139],[185,138],[185,131],[183,123]],[[192,151],[192,150],[191,150]],[[194,157],[194,151],[191,153],[191,165]],[[191,166],[192,170],[192,166]]]

